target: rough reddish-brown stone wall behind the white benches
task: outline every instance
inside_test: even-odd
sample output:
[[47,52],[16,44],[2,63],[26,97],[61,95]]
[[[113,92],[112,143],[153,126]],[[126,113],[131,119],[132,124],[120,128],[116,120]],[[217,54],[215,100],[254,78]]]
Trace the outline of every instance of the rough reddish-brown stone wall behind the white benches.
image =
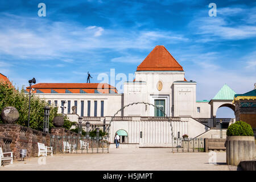
[[64,135],[70,138],[79,136],[64,128],[52,128],[51,134],[48,134],[17,124],[0,124],[0,147],[3,152],[14,152],[14,160],[20,158],[20,149],[27,149],[27,157],[37,156],[38,142],[52,146],[53,153],[56,154],[61,152],[61,147],[56,146],[57,144],[61,146],[61,143],[54,142],[53,135],[55,138]]

